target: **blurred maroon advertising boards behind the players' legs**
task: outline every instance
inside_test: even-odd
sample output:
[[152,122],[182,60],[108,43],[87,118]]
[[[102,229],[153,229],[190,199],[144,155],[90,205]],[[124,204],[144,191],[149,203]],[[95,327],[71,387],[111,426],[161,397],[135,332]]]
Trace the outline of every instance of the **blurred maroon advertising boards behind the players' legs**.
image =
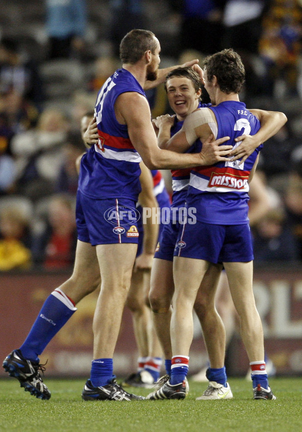
[[[20,346],[45,298],[66,280],[66,276],[65,272],[0,275],[0,360]],[[255,269],[254,292],[264,327],[265,349],[276,366],[277,375],[300,375],[302,268]],[[41,355],[41,363],[47,360],[48,377],[84,377],[89,374],[92,319],[97,295],[97,292],[92,293],[78,304],[78,311]],[[126,309],[114,355],[115,373],[124,376],[135,371],[137,355],[132,319]],[[206,359],[200,325],[195,319],[189,372],[197,372]],[[232,339],[226,366],[229,376],[246,374],[248,359],[238,334]],[[6,374],[0,369],[0,377],[4,377]]]

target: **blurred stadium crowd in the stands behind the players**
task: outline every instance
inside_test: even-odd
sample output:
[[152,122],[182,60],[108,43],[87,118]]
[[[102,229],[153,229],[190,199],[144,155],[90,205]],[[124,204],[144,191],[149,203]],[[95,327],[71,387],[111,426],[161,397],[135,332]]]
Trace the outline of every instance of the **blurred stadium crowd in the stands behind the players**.
[[[135,27],[163,41],[163,67],[186,56],[202,64],[204,55],[232,46],[246,67],[241,100],[286,114],[257,167],[271,208],[253,227],[255,264],[302,262],[297,0],[63,2],[72,13],[54,10],[59,2],[14,3],[4,1],[0,15],[0,271],[72,265],[80,121],[119,64],[117,41]],[[55,24],[65,16],[59,34]],[[147,96],[153,116],[169,112],[163,87]]]

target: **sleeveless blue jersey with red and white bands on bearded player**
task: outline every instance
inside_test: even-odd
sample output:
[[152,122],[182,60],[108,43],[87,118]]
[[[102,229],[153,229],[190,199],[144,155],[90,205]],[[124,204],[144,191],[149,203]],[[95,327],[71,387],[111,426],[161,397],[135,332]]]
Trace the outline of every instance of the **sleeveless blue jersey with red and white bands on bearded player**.
[[94,199],[126,198],[137,201],[141,191],[139,162],[127,125],[118,123],[114,104],[125,92],[145,93],[126,69],[117,69],[100,89],[95,107],[99,141],[82,157],[79,189]]

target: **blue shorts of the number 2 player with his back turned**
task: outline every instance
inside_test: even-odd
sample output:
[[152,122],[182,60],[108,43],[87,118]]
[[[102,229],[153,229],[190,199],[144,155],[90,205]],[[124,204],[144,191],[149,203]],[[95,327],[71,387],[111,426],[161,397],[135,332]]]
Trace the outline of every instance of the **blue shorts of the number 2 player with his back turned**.
[[187,223],[179,231],[174,256],[214,264],[250,262],[254,259],[250,226]]

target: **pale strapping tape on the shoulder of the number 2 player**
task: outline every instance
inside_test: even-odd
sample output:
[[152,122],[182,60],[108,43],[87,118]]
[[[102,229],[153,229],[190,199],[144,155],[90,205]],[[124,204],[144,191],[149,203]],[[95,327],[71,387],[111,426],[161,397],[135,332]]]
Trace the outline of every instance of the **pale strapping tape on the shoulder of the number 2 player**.
[[191,113],[186,117],[182,129],[186,133],[186,138],[189,144],[193,144],[197,139],[195,128],[204,124],[209,125],[214,137],[216,138],[217,125],[208,108],[199,108],[199,110],[194,111],[194,113]]

